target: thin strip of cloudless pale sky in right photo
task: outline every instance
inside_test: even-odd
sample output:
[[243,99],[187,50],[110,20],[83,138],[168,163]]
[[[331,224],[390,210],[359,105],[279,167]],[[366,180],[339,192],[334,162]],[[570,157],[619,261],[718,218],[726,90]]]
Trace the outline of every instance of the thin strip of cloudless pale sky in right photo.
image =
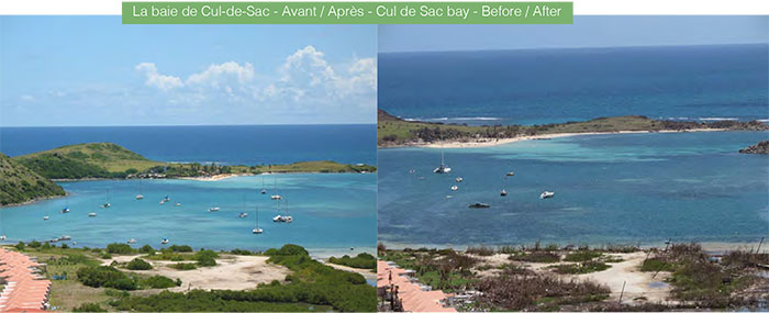
[[575,16],[572,25],[380,25],[379,52],[769,42],[769,16]]

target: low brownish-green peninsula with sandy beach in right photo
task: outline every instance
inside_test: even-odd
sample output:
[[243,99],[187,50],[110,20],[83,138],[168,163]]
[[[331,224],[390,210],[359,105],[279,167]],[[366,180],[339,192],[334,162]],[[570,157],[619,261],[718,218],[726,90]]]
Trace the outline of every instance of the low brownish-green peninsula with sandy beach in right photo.
[[698,123],[651,120],[642,115],[626,115],[599,118],[584,122],[567,122],[543,125],[468,126],[460,124],[404,121],[379,110],[377,141],[379,146],[398,146],[437,141],[495,139],[564,133],[611,133],[625,131],[659,132],[692,131],[702,128],[718,128],[724,131],[767,131],[769,130],[769,125],[757,121],[716,121]]

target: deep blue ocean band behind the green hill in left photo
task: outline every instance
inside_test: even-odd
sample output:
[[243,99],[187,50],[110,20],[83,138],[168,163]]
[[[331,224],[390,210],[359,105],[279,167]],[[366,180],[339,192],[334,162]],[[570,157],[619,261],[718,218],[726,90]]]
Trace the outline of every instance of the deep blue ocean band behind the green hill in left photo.
[[0,152],[13,157],[63,145],[111,142],[161,161],[376,164],[376,137],[374,124],[0,127]]

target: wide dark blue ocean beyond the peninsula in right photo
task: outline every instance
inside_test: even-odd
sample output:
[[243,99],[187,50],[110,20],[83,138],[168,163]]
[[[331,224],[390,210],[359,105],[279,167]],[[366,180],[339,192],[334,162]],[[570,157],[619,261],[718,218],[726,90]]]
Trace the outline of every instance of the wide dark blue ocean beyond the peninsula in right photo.
[[769,119],[766,44],[393,53],[378,63],[379,108],[405,119]]

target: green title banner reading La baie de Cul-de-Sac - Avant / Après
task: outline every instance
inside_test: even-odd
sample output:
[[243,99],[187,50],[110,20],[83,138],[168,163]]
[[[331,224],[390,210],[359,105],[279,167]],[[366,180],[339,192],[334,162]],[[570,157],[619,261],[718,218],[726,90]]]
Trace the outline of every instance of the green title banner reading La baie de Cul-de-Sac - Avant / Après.
[[571,24],[572,2],[123,2],[123,24]]

